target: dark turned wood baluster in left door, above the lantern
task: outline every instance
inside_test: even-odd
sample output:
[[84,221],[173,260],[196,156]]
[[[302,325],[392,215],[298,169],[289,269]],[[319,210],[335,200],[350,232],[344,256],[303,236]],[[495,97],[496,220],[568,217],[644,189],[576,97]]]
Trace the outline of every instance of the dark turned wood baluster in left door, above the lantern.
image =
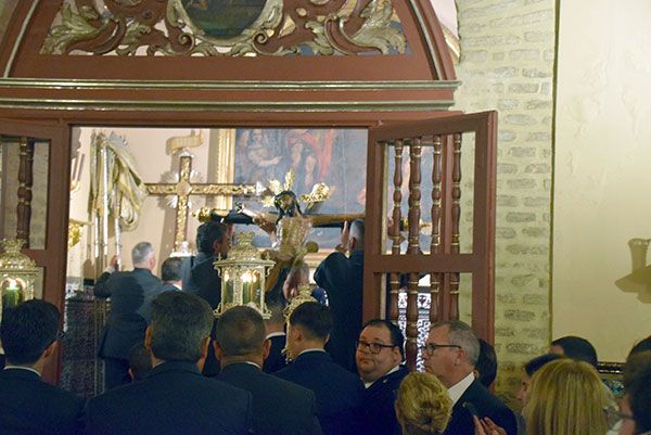
[[23,239],[23,247],[29,247],[29,223],[31,221],[31,187],[34,184],[34,141],[21,138],[18,144],[18,205],[16,206],[16,239]]

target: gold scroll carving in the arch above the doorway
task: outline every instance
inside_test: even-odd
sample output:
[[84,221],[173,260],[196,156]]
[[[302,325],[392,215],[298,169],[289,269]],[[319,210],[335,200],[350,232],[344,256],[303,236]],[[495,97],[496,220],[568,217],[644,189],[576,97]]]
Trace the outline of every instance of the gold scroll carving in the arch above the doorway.
[[[43,54],[356,55],[407,51],[391,0],[268,0],[238,36],[218,38],[182,0],[66,0]],[[100,12],[102,11],[102,12]]]

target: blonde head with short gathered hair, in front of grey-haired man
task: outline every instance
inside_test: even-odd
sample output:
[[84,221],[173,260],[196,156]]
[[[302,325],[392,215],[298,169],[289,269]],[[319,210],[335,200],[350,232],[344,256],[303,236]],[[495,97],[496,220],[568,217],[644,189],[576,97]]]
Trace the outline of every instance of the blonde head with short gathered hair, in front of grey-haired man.
[[403,435],[439,435],[450,420],[452,401],[447,388],[429,373],[409,373],[396,399]]

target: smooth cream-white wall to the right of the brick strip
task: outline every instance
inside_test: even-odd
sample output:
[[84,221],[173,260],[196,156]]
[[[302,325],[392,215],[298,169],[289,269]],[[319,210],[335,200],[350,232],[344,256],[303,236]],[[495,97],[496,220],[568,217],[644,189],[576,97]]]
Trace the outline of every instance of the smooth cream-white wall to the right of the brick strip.
[[615,285],[627,241],[651,238],[650,21],[649,0],[560,4],[552,336],[585,336],[601,360],[651,334],[651,289]]

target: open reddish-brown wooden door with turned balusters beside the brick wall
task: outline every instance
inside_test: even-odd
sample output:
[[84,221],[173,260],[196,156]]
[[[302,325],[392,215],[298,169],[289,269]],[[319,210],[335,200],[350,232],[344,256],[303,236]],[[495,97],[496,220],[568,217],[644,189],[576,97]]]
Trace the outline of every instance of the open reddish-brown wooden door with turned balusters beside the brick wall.
[[[472,174],[467,176],[473,185],[464,191],[462,167],[470,168],[462,165],[462,156],[463,139],[468,137],[474,139]],[[423,159],[426,148],[429,156]],[[496,163],[497,112],[396,123],[369,130],[363,318],[387,316],[397,321],[400,283],[407,278],[406,357],[411,368],[418,353],[417,300],[423,276],[430,278],[429,321],[437,322],[459,319],[460,274],[470,274],[472,327],[480,337],[493,343]],[[404,180],[408,180],[405,193]],[[422,189],[425,184],[427,189]],[[463,192],[472,199],[472,205],[462,203]],[[421,206],[424,199],[431,202],[427,209]],[[460,226],[462,216],[470,214],[471,240],[467,244],[471,248],[464,253]],[[408,227],[406,247],[400,246],[403,220]],[[427,222],[430,243],[423,245],[420,228]]]

